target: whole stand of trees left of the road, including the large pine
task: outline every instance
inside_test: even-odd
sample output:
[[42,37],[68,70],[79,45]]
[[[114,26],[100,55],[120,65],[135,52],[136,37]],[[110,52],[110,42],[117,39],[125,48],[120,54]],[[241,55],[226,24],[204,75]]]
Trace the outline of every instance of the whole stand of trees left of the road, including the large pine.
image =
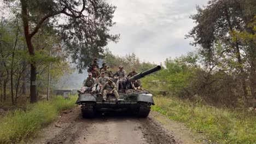
[[93,57],[103,57],[103,47],[108,41],[117,42],[119,38],[119,35],[108,33],[109,27],[114,25],[115,7],[102,0],[5,0],[1,4],[4,8],[0,47],[1,98],[6,99],[10,85],[13,104],[14,93],[15,98],[19,95],[20,82],[25,85],[27,81],[30,101],[37,101],[39,90],[45,86],[40,79],[47,80],[42,75],[46,74],[50,62],[55,62],[56,75],[69,69],[67,57],[82,71]]

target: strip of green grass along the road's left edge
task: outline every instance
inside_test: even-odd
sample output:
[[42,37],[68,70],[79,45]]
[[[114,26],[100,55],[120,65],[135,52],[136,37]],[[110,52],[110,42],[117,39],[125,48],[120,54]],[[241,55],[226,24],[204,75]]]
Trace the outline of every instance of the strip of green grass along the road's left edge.
[[34,135],[36,131],[53,122],[61,110],[74,107],[76,99],[74,96],[71,99],[57,96],[51,101],[28,104],[26,111],[9,112],[0,120],[0,143],[18,143]]

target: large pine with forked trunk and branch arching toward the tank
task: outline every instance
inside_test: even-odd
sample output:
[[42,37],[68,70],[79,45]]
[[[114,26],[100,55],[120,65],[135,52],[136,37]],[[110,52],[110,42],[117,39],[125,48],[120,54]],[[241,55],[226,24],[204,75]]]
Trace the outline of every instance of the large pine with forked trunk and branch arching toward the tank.
[[108,34],[108,27],[114,24],[112,18],[115,7],[103,0],[20,0],[20,5],[24,35],[31,59],[31,103],[37,101],[37,61],[33,37],[43,26],[55,27],[56,34],[65,42],[66,50],[72,52],[73,61],[78,63],[80,70],[86,67],[91,57],[101,56],[103,47],[109,40],[116,41],[119,37]]

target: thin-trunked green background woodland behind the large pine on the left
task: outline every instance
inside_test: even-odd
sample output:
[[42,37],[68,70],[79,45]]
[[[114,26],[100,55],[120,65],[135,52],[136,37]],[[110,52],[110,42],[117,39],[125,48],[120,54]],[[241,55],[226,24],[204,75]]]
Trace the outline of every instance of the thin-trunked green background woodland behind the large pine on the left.
[[52,81],[71,69],[66,61],[67,53],[62,50],[61,40],[50,27],[44,27],[34,38],[33,43],[37,52],[31,58],[27,51],[21,18],[16,9],[11,10],[15,15],[2,16],[0,24],[0,100],[11,100],[15,105],[19,97],[27,97],[30,93],[31,61],[37,61],[38,65],[37,94],[45,93],[49,63]]

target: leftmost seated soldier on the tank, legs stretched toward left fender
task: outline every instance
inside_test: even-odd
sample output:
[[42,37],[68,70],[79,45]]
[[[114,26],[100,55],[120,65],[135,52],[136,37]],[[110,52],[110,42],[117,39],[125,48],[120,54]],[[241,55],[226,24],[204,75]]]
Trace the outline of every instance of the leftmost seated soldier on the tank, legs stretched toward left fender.
[[92,74],[89,73],[88,78],[85,79],[84,82],[83,82],[83,87],[80,90],[78,90],[77,92],[79,94],[89,92],[91,89],[95,89],[95,87],[94,87],[95,83],[96,83],[96,80],[94,79],[94,77],[92,77]]

